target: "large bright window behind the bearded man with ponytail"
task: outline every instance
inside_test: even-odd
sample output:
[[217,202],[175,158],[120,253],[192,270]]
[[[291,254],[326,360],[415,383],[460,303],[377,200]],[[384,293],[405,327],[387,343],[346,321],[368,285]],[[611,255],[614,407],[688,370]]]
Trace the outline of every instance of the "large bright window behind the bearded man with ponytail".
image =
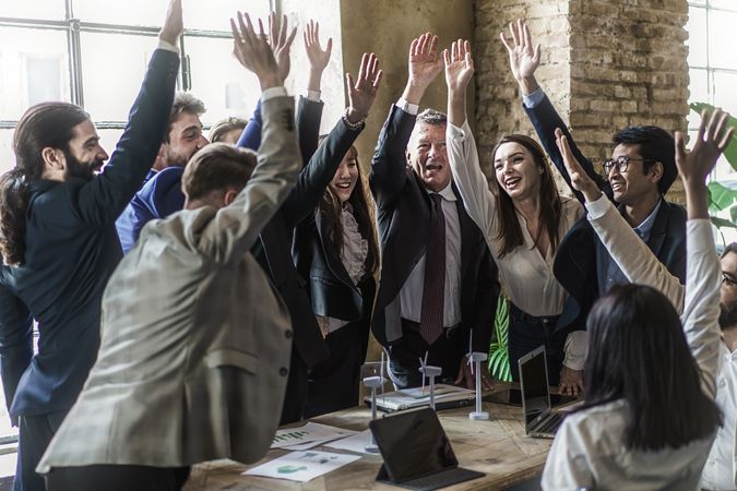
[[[255,77],[231,56],[229,17],[248,9],[265,20],[273,0],[183,0],[178,88],[207,108],[209,125],[248,117],[260,95]],[[0,1],[0,172],[13,167],[13,129],[44,100],[83,106],[110,153],[124,128],[167,1]]]

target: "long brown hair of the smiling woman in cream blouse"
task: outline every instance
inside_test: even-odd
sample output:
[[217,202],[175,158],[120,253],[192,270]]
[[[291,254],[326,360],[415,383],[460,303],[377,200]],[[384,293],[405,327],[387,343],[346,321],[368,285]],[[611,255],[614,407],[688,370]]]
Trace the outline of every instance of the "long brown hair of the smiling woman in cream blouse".
[[[543,168],[543,175],[540,176],[540,214],[539,223],[542,227],[537,227],[537,237],[533,237],[535,246],[540,240],[543,233],[543,228],[548,235],[550,240],[550,252],[555,252],[558,247],[558,227],[560,226],[560,216],[562,213],[562,204],[560,201],[560,195],[558,194],[558,188],[556,188],[556,182],[552,180],[552,172],[550,171],[550,165],[548,164],[547,158],[545,158],[545,152],[539,144],[524,134],[507,134],[499,139],[491,155],[496,158],[499,147],[504,143],[518,143],[527,151],[533,156],[533,161]],[[518,247],[524,244],[524,236],[522,235],[522,227],[520,226],[520,220],[516,217],[516,211],[514,207],[514,202],[507,194],[497,182],[496,172],[494,179],[491,179],[491,188],[494,190],[494,199],[497,205],[497,237],[496,239],[501,241],[501,248],[497,253],[500,258],[512,252]]]

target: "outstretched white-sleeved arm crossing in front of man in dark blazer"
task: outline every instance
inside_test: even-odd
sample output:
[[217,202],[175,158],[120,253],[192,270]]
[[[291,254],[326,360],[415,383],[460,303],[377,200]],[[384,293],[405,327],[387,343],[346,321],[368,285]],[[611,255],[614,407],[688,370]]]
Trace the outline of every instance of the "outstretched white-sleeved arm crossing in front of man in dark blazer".
[[662,291],[680,313],[683,310],[685,289],[678,277],[671,275],[647,244],[639,240],[634,229],[583,170],[563,132],[556,130],[556,136],[571,188],[583,196],[589,211],[589,221],[611,259],[627,279]]

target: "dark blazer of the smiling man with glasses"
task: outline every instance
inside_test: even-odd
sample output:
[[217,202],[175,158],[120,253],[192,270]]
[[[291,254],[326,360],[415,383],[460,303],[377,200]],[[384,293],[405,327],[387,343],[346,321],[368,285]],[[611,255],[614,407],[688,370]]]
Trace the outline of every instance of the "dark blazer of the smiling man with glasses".
[[[545,96],[540,104],[534,108],[525,106],[524,109],[533,127],[535,127],[545,151],[568,185],[571,185],[571,178],[566,170],[563,157],[556,144],[556,128],[560,128],[566,134],[573,155],[585,172],[596,181],[602,192],[614,201],[609,182],[596,173],[591,160],[581,153],[548,97]],[[583,204],[585,202],[583,195],[578,191],[574,191],[574,193]],[[682,206],[664,200],[655,216],[655,223],[646,242],[653,254],[674,276],[680,279],[681,284],[686,283],[686,211]],[[558,328],[570,328],[571,326],[573,328],[585,328],[589,311],[601,296],[598,290],[599,272],[596,261],[596,249],[599,243],[598,236],[585,216],[571,227],[560,243],[552,271],[558,282],[569,292],[569,298],[558,322]]]

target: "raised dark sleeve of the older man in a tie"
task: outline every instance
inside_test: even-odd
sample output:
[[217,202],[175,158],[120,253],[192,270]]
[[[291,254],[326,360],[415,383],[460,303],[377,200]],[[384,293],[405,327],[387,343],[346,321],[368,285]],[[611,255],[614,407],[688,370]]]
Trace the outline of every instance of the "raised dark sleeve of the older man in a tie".
[[390,206],[404,189],[407,179],[405,153],[416,119],[416,116],[392,105],[381,129],[369,172],[371,194],[380,208]]

